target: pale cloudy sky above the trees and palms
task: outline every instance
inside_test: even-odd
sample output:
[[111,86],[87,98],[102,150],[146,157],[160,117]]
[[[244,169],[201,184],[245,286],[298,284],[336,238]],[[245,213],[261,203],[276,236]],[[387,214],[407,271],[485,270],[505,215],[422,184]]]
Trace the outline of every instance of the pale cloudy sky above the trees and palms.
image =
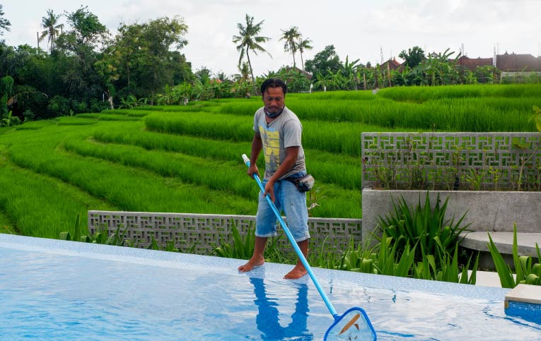
[[[209,68],[214,74],[238,73],[233,35],[245,15],[264,20],[260,35],[270,37],[263,47],[272,55],[251,55],[255,75],[293,64],[284,52],[282,30],[297,26],[313,49],[303,59],[313,59],[327,45],[334,45],[343,62],[372,65],[392,57],[401,61],[402,50],[419,46],[426,53],[450,48],[456,56],[463,50],[470,58],[490,58],[494,51],[541,54],[541,0],[2,0],[4,18],[11,32],[0,39],[6,44],[37,45],[42,17],[54,13],[88,10],[115,34],[120,23],[145,23],[180,16],[188,25],[188,44],[181,52],[192,70]],[[66,23],[65,16],[60,19]],[[44,40],[40,47],[45,48]],[[296,55],[297,66],[301,66]]]

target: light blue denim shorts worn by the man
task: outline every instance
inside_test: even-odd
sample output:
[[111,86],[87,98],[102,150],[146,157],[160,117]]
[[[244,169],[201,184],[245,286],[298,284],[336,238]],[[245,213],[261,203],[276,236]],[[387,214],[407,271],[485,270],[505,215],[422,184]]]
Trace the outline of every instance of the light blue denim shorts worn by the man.
[[[306,172],[295,174],[298,177],[306,175]],[[263,181],[263,186],[267,181]],[[274,184],[274,206],[278,212],[284,211],[286,224],[295,241],[303,241],[310,238],[308,232],[308,208],[306,208],[306,192],[298,191],[291,181],[280,180]],[[274,215],[267,199],[260,191],[260,202],[255,217],[255,235],[257,237],[274,237],[277,235],[277,217]]]

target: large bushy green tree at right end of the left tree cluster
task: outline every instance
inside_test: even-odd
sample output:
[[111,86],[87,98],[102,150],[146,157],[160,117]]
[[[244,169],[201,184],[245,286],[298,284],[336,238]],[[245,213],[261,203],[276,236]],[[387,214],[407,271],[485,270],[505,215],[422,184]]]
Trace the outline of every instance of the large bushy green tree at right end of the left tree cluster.
[[95,67],[120,97],[153,97],[165,85],[192,81],[192,66],[178,49],[187,44],[188,27],[180,16],[122,24]]

